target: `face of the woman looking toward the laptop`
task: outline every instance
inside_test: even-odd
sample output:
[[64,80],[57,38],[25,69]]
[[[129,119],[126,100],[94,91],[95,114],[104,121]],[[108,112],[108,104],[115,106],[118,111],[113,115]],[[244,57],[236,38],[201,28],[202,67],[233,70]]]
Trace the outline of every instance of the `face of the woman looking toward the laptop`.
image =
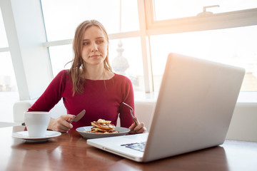
[[86,29],[81,53],[86,66],[103,65],[107,56],[107,48],[106,36],[98,26],[91,26]]

